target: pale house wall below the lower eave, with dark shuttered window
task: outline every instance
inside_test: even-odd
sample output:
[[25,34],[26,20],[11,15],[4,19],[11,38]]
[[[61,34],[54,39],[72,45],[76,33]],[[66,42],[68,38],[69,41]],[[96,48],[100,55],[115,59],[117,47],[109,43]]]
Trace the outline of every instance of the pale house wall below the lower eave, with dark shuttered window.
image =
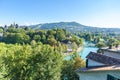
[[[79,80],[120,80],[120,71],[117,70],[91,70],[80,72],[78,75]],[[113,77],[113,79],[109,78],[109,76]]]

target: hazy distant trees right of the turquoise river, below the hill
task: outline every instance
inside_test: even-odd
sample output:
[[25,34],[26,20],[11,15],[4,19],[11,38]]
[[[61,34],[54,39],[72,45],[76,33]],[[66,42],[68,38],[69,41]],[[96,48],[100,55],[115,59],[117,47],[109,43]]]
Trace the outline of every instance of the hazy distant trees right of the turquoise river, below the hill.
[[120,44],[120,36],[117,33],[80,32],[76,35],[84,38],[86,41],[96,44],[96,46],[99,48],[105,46],[117,46]]

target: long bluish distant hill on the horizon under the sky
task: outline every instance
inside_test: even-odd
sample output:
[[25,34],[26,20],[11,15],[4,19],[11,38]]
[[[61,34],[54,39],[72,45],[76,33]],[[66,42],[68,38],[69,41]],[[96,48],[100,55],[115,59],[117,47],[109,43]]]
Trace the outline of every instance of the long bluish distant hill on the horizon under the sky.
[[92,26],[85,26],[79,24],[77,22],[58,22],[58,23],[45,23],[45,24],[37,24],[31,25],[30,28],[32,29],[53,29],[53,28],[62,28],[66,29],[69,32],[76,33],[76,32],[105,32],[111,33],[116,32],[120,33],[120,28],[98,28]]

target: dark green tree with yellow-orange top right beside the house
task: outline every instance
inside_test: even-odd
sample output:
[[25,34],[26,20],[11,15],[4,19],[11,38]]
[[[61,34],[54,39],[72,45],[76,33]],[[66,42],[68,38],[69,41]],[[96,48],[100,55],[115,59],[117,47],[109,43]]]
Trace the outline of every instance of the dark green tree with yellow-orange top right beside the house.
[[62,80],[79,80],[75,70],[85,66],[85,62],[79,57],[77,53],[73,54],[71,60],[64,60],[62,66]]

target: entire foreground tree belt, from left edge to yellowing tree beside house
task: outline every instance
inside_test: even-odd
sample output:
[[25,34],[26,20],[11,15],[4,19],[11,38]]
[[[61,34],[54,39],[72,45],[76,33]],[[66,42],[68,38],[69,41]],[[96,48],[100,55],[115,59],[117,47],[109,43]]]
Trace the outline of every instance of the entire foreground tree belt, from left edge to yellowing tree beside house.
[[2,80],[78,80],[75,70],[85,65],[79,56],[63,60],[58,48],[49,45],[0,46]]

